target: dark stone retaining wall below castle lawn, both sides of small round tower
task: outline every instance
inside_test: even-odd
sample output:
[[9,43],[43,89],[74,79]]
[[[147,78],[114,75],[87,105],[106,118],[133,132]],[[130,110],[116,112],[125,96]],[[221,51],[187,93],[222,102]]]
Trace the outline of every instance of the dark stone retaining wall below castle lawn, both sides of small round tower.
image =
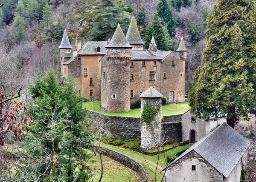
[[[100,113],[89,111],[90,118],[103,118],[104,133],[107,137],[122,139],[125,141],[141,140],[140,118],[106,116]],[[96,114],[95,114],[96,113]],[[179,118],[179,115],[168,116],[169,119]],[[168,118],[167,117],[167,118]],[[93,119],[95,120],[95,119]],[[163,122],[161,123],[161,137],[165,134],[167,142],[181,142],[181,122]]]

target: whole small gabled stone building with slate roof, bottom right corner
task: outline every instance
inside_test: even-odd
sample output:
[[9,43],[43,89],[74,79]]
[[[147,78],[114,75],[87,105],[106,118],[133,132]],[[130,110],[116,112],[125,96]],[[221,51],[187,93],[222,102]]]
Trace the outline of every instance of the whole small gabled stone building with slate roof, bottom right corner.
[[166,182],[240,182],[250,142],[227,123],[198,140],[163,169]]

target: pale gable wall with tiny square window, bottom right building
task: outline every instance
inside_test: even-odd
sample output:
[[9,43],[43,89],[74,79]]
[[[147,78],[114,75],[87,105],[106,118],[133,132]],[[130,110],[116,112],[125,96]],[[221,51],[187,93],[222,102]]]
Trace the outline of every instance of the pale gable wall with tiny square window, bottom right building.
[[[195,171],[192,171],[192,165],[195,165]],[[223,182],[223,175],[198,153],[191,151],[167,168],[165,181]]]

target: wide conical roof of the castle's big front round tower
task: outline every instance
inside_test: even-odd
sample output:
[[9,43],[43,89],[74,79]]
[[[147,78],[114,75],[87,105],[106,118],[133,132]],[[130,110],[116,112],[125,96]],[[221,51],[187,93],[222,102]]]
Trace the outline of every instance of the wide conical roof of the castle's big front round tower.
[[125,38],[125,34],[122,31],[122,28],[120,27],[119,23],[116,28],[115,33],[113,34],[113,37],[110,41],[110,43],[105,46],[107,48],[132,48],[132,46],[128,43],[127,39]]

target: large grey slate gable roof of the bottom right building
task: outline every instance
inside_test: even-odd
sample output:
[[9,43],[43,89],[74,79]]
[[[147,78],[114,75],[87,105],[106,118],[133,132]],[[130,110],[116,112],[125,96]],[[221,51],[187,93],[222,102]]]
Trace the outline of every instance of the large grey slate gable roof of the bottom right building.
[[218,128],[198,140],[198,142],[169,164],[167,168],[194,150],[227,178],[249,145],[250,142],[247,139],[224,122]]

